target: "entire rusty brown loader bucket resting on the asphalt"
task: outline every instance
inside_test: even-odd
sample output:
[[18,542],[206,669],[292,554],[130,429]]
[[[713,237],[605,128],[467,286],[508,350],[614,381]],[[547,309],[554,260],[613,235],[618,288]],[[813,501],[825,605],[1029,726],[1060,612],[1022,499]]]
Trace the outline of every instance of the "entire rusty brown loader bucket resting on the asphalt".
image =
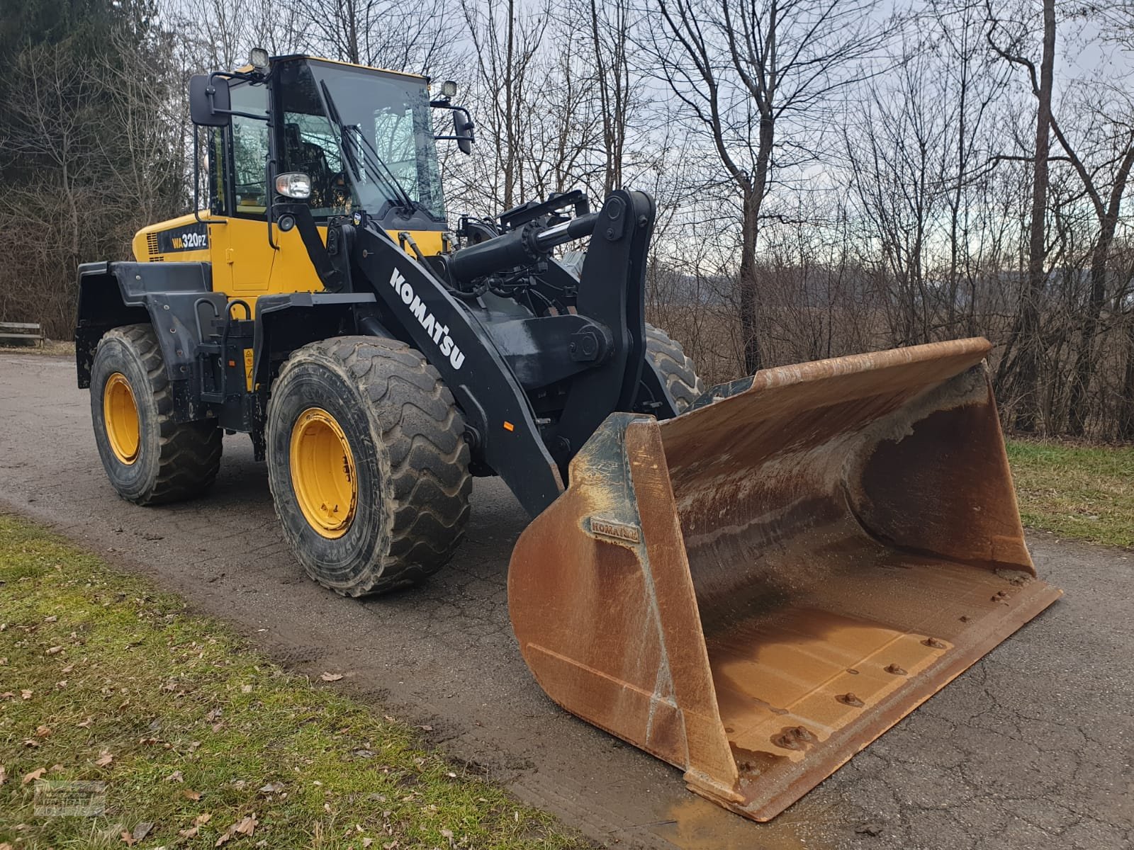
[[1060,590],[1035,578],[984,340],[765,369],[615,414],[521,536],[524,660],[567,711],[756,821]]

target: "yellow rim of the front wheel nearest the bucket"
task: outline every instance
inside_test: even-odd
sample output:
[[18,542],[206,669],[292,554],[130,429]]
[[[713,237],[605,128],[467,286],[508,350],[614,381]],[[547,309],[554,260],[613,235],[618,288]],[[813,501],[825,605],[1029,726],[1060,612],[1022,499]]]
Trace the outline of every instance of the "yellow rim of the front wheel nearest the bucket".
[[291,488],[308,525],[329,539],[350,527],[358,503],[354,454],[335,417],[319,407],[291,428]]

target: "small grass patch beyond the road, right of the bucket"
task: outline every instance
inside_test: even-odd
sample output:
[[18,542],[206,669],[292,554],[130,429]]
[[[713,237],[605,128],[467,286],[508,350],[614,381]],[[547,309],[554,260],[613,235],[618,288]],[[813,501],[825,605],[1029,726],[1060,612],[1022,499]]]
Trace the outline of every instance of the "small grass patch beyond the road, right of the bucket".
[[1134,547],[1134,447],[1008,442],[1024,525]]

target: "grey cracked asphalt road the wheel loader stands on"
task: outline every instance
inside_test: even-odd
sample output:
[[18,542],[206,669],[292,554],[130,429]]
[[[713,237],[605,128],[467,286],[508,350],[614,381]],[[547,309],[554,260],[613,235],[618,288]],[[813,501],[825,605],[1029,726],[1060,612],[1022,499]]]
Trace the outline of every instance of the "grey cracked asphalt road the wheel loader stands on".
[[120,501],[69,360],[0,354],[0,509],[45,521],[231,622],[291,670],[342,672],[383,713],[602,844],[730,848],[1128,848],[1134,841],[1134,556],[1032,534],[1066,595],[770,824],[685,790],[680,772],[559,709],[508,622],[525,517],[481,479],[452,564],[355,601],[307,580],[264,466],[226,439],[212,494]]

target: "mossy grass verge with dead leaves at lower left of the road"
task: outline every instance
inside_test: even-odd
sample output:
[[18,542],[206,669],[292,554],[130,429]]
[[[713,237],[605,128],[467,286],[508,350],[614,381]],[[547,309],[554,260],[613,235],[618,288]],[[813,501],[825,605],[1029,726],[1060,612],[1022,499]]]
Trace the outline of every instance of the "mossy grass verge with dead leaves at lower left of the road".
[[[121,848],[152,823],[141,848],[211,848],[249,816],[225,847],[586,845],[413,729],[5,515],[0,765],[0,847]],[[23,780],[40,768],[105,782],[105,814],[36,816]]]

